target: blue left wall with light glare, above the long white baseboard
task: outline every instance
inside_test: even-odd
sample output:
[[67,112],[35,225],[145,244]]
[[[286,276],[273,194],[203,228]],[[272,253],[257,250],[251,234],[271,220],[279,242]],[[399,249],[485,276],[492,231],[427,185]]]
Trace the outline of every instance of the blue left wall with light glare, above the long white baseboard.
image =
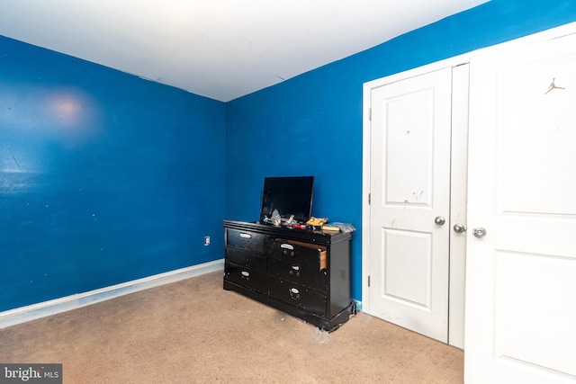
[[225,134],[224,103],[0,37],[0,311],[220,259]]

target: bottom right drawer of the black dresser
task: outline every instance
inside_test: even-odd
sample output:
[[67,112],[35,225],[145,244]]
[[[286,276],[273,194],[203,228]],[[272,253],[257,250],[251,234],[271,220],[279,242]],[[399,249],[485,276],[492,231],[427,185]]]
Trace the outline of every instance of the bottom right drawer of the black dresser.
[[305,308],[320,316],[326,316],[327,296],[306,286],[293,281],[270,277],[268,292],[271,298]]

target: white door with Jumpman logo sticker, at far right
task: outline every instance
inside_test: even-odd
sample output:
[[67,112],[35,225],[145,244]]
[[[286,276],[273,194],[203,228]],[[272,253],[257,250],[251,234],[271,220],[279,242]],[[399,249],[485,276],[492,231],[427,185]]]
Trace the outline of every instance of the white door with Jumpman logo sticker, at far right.
[[471,61],[469,384],[576,382],[574,68],[575,35]]

